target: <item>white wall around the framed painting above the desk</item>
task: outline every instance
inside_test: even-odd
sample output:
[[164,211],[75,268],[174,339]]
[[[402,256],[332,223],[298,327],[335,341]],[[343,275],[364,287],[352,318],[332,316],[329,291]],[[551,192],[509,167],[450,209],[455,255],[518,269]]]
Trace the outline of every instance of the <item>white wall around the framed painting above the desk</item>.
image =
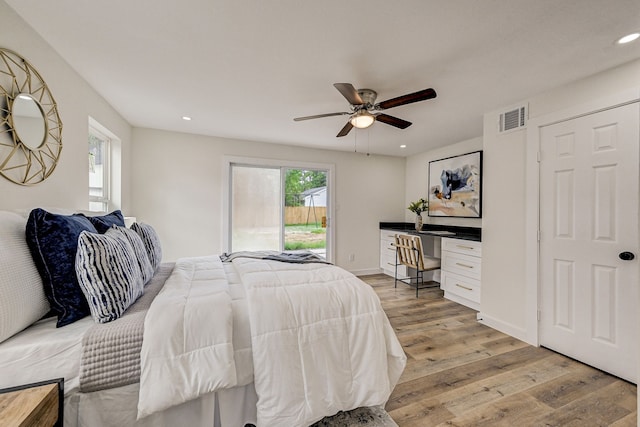
[[[457,144],[447,145],[435,150],[407,157],[406,184],[405,184],[405,220],[413,222],[415,214],[407,209],[409,203],[420,198],[428,197],[429,186],[429,162],[444,159],[446,157],[466,154],[472,151],[482,150],[482,138],[473,138]],[[484,202],[483,202],[484,209]],[[464,227],[482,227],[481,218],[442,218],[430,217],[422,214],[425,224],[446,224]]]

